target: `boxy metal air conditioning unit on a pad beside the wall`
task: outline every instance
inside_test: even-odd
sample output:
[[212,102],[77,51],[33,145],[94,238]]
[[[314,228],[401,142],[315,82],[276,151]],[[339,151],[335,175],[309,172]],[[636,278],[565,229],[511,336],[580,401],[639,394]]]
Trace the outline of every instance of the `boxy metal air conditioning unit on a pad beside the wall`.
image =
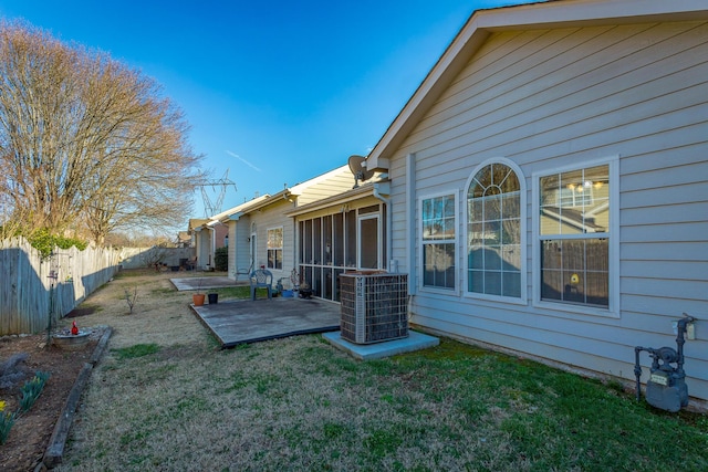
[[341,337],[372,344],[408,337],[408,276],[377,272],[340,275]]

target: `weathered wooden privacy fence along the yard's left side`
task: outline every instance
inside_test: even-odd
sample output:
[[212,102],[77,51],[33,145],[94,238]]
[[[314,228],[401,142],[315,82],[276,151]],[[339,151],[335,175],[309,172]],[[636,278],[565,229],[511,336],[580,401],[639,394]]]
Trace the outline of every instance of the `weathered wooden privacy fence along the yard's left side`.
[[0,336],[40,333],[118,270],[119,251],[55,248],[48,258],[23,238],[0,243]]

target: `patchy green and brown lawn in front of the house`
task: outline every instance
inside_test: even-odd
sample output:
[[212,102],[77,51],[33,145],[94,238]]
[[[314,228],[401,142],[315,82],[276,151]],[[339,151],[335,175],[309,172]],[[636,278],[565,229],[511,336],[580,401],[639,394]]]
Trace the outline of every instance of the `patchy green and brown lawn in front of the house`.
[[[708,468],[704,417],[448,339],[367,363],[317,335],[219,350],[169,276],[123,276],[87,301],[101,310],[84,318],[115,335],[61,470]],[[117,295],[134,284],[126,315]]]

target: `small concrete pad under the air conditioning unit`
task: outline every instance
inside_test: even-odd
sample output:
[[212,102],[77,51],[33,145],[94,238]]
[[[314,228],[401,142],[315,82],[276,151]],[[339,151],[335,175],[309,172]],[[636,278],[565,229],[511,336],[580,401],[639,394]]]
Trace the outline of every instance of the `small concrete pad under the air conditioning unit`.
[[396,354],[410,353],[414,350],[435,347],[440,344],[440,339],[423,333],[408,331],[408,337],[403,339],[386,340],[376,344],[354,344],[342,338],[341,332],[324,333],[324,337],[333,346],[348,353],[360,360],[381,359],[395,356]]

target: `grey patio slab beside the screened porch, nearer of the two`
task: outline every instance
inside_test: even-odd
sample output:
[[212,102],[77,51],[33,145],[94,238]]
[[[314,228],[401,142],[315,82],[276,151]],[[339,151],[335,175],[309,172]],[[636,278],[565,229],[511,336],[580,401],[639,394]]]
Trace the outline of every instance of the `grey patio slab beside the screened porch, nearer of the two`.
[[323,300],[237,300],[191,308],[222,348],[340,329],[340,305]]

